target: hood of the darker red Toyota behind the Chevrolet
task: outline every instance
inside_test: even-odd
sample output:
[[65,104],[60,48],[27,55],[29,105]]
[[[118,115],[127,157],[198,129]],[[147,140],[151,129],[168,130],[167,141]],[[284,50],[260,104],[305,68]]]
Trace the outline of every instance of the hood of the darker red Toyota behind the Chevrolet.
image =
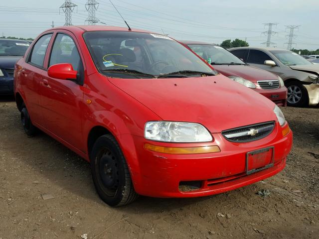
[[269,72],[248,65],[213,65],[214,69],[225,76],[239,76],[246,80],[257,82],[262,80],[278,80],[278,77]]

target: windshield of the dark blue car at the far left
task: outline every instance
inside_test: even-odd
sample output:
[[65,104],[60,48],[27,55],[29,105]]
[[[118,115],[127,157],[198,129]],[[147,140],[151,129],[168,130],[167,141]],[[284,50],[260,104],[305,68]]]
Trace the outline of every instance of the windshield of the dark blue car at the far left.
[[0,56],[24,56],[29,45],[27,41],[0,40]]

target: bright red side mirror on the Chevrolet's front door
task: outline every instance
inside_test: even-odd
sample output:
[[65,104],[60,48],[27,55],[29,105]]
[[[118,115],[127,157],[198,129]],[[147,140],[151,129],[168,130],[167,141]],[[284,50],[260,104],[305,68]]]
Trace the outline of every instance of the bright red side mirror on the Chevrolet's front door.
[[55,64],[49,67],[48,76],[60,80],[76,80],[77,71],[73,70],[70,63]]

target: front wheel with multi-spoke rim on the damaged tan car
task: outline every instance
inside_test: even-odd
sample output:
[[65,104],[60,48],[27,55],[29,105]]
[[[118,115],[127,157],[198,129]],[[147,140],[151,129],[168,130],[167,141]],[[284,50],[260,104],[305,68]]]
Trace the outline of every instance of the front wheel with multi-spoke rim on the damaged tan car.
[[307,89],[298,81],[291,81],[286,84],[288,89],[287,105],[294,107],[305,107],[308,105]]

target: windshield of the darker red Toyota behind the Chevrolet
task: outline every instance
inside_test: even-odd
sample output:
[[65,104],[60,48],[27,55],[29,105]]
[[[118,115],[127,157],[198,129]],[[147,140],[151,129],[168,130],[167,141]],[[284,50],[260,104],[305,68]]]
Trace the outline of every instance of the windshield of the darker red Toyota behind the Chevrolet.
[[238,63],[245,64],[235,55],[227,51],[220,46],[205,45],[205,44],[189,44],[190,49],[192,49],[197,55],[203,58],[205,61],[210,61],[213,63]]

